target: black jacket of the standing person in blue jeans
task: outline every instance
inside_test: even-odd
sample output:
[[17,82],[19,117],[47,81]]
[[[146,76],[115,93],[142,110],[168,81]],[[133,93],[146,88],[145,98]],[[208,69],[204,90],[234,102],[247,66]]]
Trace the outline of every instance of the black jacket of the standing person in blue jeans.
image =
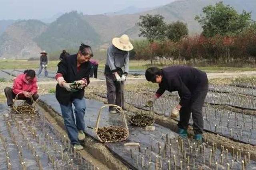
[[[92,63],[88,61],[81,64],[80,70],[78,72],[76,57],[77,54],[64,57],[64,59],[60,61],[60,63],[58,63],[57,73],[61,73],[67,83],[72,83],[76,80],[81,80],[82,78],[85,78],[87,80],[87,84],[89,84]],[[68,92],[65,88],[60,87],[59,84],[57,84],[56,86],[56,99],[60,104],[68,105],[72,101],[72,99],[82,99],[83,97],[84,89],[79,90],[78,92]]]

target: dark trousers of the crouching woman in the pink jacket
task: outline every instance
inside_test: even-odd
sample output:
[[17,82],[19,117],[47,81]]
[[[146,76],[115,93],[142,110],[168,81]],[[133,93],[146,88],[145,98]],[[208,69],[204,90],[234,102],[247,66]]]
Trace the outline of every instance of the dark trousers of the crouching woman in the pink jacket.
[[[10,88],[10,87],[4,88],[4,93],[5,93],[5,96],[6,96],[6,99],[7,99],[7,105],[12,106],[13,105],[13,99],[15,99],[16,94],[14,94],[14,92],[12,91],[12,88]],[[39,96],[38,96],[38,94],[33,94],[32,98],[33,98],[34,101],[36,101],[39,98]],[[32,101],[31,101],[30,98],[26,98],[25,96],[23,96],[21,94],[18,96],[18,100],[26,100],[26,102],[28,104],[30,104],[30,105],[32,104]]]

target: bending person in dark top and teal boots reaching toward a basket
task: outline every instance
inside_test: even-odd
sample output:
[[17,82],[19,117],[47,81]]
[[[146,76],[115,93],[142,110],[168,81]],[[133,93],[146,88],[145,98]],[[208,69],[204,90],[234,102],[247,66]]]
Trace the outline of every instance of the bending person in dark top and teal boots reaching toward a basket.
[[180,115],[179,134],[187,137],[188,122],[192,113],[195,139],[202,141],[204,121],[202,107],[208,92],[208,78],[205,72],[186,66],[170,66],[162,70],[151,67],[146,70],[146,79],[159,84],[156,94],[147,102],[152,106],[166,90],[178,91],[180,103],[171,111],[171,117]]

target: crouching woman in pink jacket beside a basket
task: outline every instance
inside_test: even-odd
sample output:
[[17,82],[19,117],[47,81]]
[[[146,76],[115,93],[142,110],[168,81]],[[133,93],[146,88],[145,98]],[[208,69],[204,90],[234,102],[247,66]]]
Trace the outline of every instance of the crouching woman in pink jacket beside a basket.
[[18,75],[14,80],[12,88],[4,88],[7,105],[12,107],[13,99],[18,93],[20,93],[18,100],[26,100],[28,104],[32,104],[30,96],[32,96],[34,101],[39,97],[37,94],[38,86],[36,82],[36,72],[34,70],[25,70],[24,74]]

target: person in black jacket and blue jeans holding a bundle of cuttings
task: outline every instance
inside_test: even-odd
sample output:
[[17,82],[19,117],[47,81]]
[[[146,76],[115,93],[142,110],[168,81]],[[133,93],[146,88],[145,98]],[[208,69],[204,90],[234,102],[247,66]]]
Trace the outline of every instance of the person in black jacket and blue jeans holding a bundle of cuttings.
[[[89,62],[93,57],[92,49],[88,45],[81,44],[79,51],[75,55],[63,58],[58,63],[58,72],[56,80],[56,99],[60,103],[60,109],[64,123],[68,132],[68,137],[76,150],[82,150],[83,147],[79,141],[84,140],[84,113],[86,109],[84,99],[84,87],[89,84],[89,76],[92,64]],[[79,83],[79,90],[70,87],[72,82]],[[76,123],[72,104],[74,105]]]

